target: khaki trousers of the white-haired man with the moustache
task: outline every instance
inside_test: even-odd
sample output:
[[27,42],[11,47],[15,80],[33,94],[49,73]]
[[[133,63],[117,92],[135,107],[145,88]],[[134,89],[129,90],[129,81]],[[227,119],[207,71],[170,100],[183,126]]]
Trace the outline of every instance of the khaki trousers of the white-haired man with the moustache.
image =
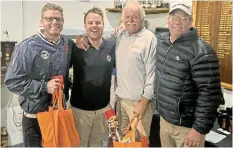
[[[133,110],[136,101],[122,99],[119,96],[117,98],[117,118],[120,124],[120,131],[123,134],[124,130],[127,128],[130,120],[134,117]],[[137,130],[142,133],[144,136],[150,135],[150,126],[154,113],[154,104],[152,101],[148,103],[148,107],[145,110],[142,119],[137,125]]]

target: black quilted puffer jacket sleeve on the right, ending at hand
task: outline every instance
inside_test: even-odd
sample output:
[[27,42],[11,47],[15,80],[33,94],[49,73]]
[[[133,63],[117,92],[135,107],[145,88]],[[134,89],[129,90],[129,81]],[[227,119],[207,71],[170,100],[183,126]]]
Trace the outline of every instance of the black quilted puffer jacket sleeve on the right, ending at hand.
[[201,134],[207,134],[213,128],[222,97],[216,54],[203,52],[194,60],[191,72],[198,91],[193,128]]

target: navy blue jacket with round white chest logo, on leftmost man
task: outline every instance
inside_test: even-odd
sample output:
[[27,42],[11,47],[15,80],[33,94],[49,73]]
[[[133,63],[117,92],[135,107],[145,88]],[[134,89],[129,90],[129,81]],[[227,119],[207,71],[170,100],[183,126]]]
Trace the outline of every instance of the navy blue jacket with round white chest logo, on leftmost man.
[[47,84],[52,76],[68,75],[67,39],[48,42],[40,33],[18,44],[13,52],[5,78],[6,87],[18,94],[19,103],[27,113],[46,110],[51,103]]

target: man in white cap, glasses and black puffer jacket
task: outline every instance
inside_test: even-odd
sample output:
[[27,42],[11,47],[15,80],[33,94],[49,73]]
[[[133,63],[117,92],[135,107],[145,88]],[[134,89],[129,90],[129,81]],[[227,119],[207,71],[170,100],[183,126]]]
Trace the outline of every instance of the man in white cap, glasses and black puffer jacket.
[[192,8],[171,5],[169,33],[158,35],[157,110],[162,147],[204,147],[222,97],[218,58],[192,27]]

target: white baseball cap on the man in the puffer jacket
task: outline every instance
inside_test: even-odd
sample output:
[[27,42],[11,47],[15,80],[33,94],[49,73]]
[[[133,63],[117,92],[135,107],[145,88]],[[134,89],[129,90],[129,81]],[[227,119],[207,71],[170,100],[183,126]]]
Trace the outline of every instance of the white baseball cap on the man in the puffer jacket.
[[185,4],[182,2],[173,3],[170,6],[169,14],[176,9],[181,9],[184,12],[186,12],[188,15],[192,15],[192,7],[189,4]]

